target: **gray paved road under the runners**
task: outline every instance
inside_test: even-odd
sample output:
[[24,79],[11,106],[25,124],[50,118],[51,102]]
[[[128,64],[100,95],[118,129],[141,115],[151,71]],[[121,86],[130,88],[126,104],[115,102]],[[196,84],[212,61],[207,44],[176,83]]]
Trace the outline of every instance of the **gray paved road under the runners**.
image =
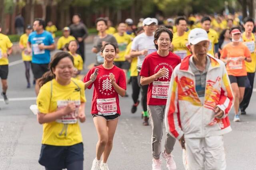
[[[86,46],[86,66],[94,61],[90,53],[91,45]],[[14,55],[10,62],[21,57]],[[13,63],[9,68],[8,97],[10,104],[5,105],[0,100],[0,169],[1,170],[43,170],[38,164],[40,154],[42,125],[37,123],[36,116],[28,109],[35,104],[34,89],[26,89],[24,64]],[[86,72],[86,71],[85,71]],[[84,72],[84,73],[85,73]],[[255,87],[254,87],[255,88]],[[131,86],[128,86],[131,94]],[[84,139],[84,167],[89,170],[95,158],[97,134],[90,115],[92,90],[86,90],[86,123],[80,124]],[[110,154],[108,165],[110,170],[150,170],[152,164],[150,135],[151,127],[142,126],[140,119],[141,107],[137,113],[130,113],[131,98],[120,99],[122,116],[120,117],[114,147]],[[233,131],[224,136],[228,170],[256,170],[256,93],[254,92],[247,115],[242,115],[240,123],[231,121]],[[234,112],[231,111],[230,119]],[[164,143],[162,144],[164,145]],[[174,160],[177,169],[182,166],[182,150],[178,143],[174,147]],[[163,160],[163,170],[166,170]]]

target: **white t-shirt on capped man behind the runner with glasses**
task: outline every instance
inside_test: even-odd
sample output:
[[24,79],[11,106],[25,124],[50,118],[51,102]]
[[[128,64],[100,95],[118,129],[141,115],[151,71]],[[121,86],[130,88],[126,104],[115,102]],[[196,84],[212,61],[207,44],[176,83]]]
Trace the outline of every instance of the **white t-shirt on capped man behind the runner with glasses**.
[[[154,35],[152,36],[147,36],[145,33],[141,33],[137,37],[134,38],[132,41],[132,47],[131,49],[133,51],[142,51],[144,49],[148,50],[148,54],[153,53],[156,51],[155,43],[154,43]],[[140,55],[138,56],[138,63],[137,66],[141,68],[142,63],[145,59],[146,55]],[[138,69],[140,71],[140,69]]]

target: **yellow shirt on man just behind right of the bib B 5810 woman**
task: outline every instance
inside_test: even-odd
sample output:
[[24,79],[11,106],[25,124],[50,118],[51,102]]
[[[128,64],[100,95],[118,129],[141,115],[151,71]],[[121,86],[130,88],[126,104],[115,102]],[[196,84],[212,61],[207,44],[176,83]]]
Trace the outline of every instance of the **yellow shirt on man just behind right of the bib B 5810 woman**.
[[118,43],[118,49],[119,53],[117,54],[119,57],[114,59],[114,61],[125,61],[125,51],[127,48],[127,45],[132,41],[130,35],[124,34],[123,36],[120,36],[118,33],[114,33],[113,35],[116,38],[116,41]]

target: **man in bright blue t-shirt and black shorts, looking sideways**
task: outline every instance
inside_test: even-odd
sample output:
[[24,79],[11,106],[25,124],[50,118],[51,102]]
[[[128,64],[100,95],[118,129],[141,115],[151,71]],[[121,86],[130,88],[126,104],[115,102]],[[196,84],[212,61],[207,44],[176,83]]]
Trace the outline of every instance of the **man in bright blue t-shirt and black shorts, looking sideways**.
[[52,34],[44,30],[44,20],[38,18],[34,20],[34,31],[28,36],[28,51],[32,51],[32,72],[37,80],[49,70],[50,51],[55,49]]

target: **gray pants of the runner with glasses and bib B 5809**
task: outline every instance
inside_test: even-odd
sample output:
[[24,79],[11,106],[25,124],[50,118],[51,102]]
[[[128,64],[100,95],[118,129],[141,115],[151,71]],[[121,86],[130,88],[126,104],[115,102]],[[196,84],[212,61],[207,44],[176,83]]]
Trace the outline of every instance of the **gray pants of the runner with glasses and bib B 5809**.
[[[161,154],[161,141],[163,136],[163,124],[164,124],[164,111],[165,105],[153,106],[148,105],[149,119],[152,126],[152,156],[155,159],[160,158]],[[164,148],[167,153],[171,153],[174,147],[176,139],[170,136],[166,132],[166,140]]]

